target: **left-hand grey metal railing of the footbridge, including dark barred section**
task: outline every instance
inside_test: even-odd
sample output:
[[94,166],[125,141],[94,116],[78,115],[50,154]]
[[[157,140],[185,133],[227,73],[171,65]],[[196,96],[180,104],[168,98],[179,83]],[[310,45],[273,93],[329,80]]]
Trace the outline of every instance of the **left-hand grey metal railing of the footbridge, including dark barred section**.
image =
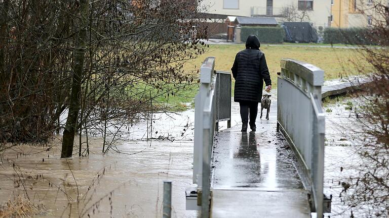
[[231,120],[231,75],[214,71],[215,58],[205,59],[200,69],[200,89],[195,98],[195,146],[193,183],[201,196],[202,217],[209,217],[210,176],[216,123]]

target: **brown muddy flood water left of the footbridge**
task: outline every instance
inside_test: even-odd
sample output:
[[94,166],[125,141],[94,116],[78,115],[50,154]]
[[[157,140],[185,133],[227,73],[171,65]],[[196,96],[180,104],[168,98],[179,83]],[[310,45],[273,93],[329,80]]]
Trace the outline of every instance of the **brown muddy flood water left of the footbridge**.
[[197,217],[197,211],[185,210],[192,141],[154,141],[151,147],[127,141],[118,146],[123,152],[142,152],[102,155],[102,140],[92,139],[94,153],[68,159],[60,158],[60,138],[50,146],[47,151],[46,146],[21,145],[4,153],[1,203],[26,190],[30,200],[47,209],[35,217],[162,217],[163,181],[170,180],[172,217]]

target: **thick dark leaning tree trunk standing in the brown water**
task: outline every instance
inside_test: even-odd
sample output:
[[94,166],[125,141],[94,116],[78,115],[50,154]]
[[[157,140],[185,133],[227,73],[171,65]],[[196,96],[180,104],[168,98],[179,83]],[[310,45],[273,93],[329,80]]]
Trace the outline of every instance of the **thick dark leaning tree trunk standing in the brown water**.
[[77,47],[74,51],[73,79],[71,94],[69,99],[69,113],[67,115],[66,126],[63,131],[61,157],[70,157],[73,153],[73,141],[77,118],[79,116],[81,104],[81,80],[83,78],[85,59],[85,40],[87,34],[88,1],[80,0],[80,31],[76,40]]

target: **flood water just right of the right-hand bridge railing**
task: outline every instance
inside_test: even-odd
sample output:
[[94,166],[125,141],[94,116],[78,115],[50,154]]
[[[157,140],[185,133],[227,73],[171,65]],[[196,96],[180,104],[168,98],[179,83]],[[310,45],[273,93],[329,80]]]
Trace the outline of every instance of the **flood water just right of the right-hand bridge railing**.
[[[350,100],[354,104],[358,101]],[[324,193],[328,197],[332,195],[332,207],[331,213],[327,213],[325,217],[351,217],[350,208],[339,197],[343,190],[341,183],[347,183],[350,176],[358,175],[357,169],[362,161],[358,148],[363,143],[363,135],[356,133],[360,131],[355,113],[345,109],[346,101],[349,100],[342,100],[327,107],[331,111],[326,113]],[[354,215],[358,214],[354,212]]]

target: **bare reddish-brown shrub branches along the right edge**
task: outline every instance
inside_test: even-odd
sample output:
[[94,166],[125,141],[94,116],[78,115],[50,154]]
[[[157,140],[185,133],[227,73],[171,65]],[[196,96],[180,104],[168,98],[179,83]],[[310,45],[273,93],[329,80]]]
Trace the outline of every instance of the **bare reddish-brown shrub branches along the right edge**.
[[343,182],[342,199],[351,217],[389,217],[389,7],[377,0],[372,8],[377,17],[366,37],[380,47],[362,45],[359,50],[370,64],[370,68],[358,65],[359,70],[373,70],[369,76],[373,82],[359,95],[361,103],[355,112],[357,133],[365,136],[358,147],[358,174]]

